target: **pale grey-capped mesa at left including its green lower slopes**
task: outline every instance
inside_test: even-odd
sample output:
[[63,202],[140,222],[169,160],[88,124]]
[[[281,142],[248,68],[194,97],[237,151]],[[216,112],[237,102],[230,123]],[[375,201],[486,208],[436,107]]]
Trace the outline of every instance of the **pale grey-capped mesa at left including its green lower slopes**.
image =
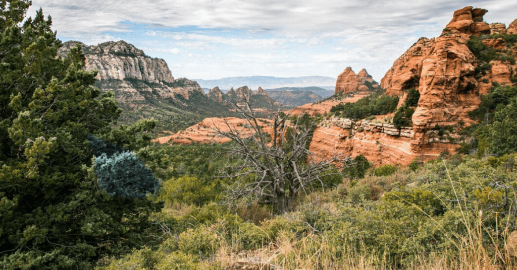
[[230,106],[209,99],[203,89],[187,78],[174,78],[162,59],[151,58],[125,41],[87,46],[65,42],[61,56],[81,45],[86,70],[97,70],[96,86],[112,91],[123,113],[119,124],[142,118],[157,120],[156,133],[176,132],[205,117],[233,116]]

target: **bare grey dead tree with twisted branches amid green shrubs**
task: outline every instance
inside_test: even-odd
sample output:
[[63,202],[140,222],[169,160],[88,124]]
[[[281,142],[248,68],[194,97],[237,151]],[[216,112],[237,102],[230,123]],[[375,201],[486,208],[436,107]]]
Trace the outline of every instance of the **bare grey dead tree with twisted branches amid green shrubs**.
[[225,153],[241,159],[238,165],[227,165],[221,171],[222,177],[236,180],[229,190],[231,198],[256,196],[276,203],[277,213],[282,215],[299,192],[307,193],[314,182],[323,185],[325,177],[340,174],[345,164],[341,155],[322,160],[309,151],[314,126],[301,126],[300,118],[291,122],[289,115],[280,112],[269,121],[259,119],[249,100],[244,102],[245,106],[234,107],[246,119],[246,125],[225,121],[224,130],[216,128],[220,136],[233,140]]

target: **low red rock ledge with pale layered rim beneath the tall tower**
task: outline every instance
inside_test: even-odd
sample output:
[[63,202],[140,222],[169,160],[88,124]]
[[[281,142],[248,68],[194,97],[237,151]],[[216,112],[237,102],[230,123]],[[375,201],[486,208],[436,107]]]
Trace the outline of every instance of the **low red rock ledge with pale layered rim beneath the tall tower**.
[[420,161],[436,158],[450,150],[455,137],[440,136],[438,131],[425,132],[428,149],[415,152],[413,128],[398,129],[382,118],[373,121],[330,117],[314,131],[309,150],[322,157],[331,157],[336,151],[345,156],[363,155],[375,166],[386,164],[407,165],[415,158]]

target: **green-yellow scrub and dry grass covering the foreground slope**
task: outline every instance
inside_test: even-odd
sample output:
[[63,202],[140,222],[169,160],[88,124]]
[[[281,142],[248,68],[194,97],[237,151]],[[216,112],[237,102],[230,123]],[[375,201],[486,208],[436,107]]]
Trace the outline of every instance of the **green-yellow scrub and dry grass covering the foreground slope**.
[[227,200],[234,182],[217,170],[239,161],[215,158],[225,145],[155,146],[169,164],[156,173],[161,243],[105,258],[98,269],[512,268],[505,243],[517,214],[517,138],[507,132],[516,105],[517,87],[495,87],[472,114],[486,120],[465,129],[473,139],[462,151],[470,154],[405,169],[374,168],[358,156],[341,183],[312,186],[281,216],[252,197]]

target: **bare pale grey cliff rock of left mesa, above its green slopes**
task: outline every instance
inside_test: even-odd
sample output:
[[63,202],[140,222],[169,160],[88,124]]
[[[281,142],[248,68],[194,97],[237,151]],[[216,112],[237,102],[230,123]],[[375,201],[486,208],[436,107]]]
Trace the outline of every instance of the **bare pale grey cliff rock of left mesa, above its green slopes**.
[[[125,41],[109,41],[87,46],[78,41],[65,42],[59,54],[66,55],[81,45],[86,56],[86,70],[97,70],[97,86],[113,91],[115,99],[129,107],[146,98],[188,100],[192,92],[203,89],[186,78],[174,79],[163,59],[151,58]],[[179,98],[181,97],[181,98]]]

